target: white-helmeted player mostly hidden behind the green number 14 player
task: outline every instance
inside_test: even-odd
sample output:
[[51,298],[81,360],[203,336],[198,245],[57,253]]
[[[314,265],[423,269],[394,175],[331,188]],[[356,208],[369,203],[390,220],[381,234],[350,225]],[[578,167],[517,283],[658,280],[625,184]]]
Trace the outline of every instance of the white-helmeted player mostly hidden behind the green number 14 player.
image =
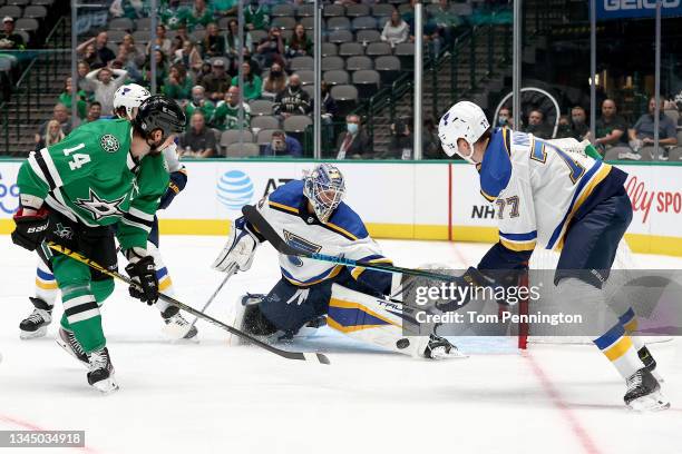
[[[127,118],[133,120],[137,115],[139,105],[150,96],[149,91],[136,83],[125,85],[119,87],[114,93],[114,115],[117,118]],[[173,201],[173,198],[185,188],[187,182],[187,171],[177,158],[177,146],[172,144],[163,150],[168,172],[170,174],[170,182],[168,190],[162,197],[158,209],[167,208]],[[57,299],[57,282],[50,269],[49,263],[50,251],[47,249],[37,249],[39,259],[36,268],[36,296],[29,297],[33,304],[33,312],[19,324],[20,337],[30,339],[42,337],[47,334],[47,327],[52,320],[52,308]],[[156,276],[159,283],[159,290],[173,296],[173,282],[168,275],[168,269],[158,251],[158,218],[154,217],[154,226],[149,234],[147,250],[154,257],[156,265]],[[158,300],[156,307],[160,310],[164,319],[164,330],[169,336],[175,336],[177,333],[185,338],[193,338],[197,334],[195,326],[191,325],[179,310],[168,305],[165,302]],[[64,336],[61,336],[64,337]],[[72,340],[72,339],[71,339]],[[59,339],[60,345],[65,346],[68,339]]]

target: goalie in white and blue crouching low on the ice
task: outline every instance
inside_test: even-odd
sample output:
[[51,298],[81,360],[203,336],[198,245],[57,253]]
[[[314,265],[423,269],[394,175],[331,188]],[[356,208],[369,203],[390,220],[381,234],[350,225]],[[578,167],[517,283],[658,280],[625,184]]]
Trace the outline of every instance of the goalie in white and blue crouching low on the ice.
[[[279,187],[257,204],[265,220],[289,244],[314,253],[390,264],[360,217],[342,201],[341,171],[321,164],[302,180]],[[245,218],[236,219],[213,267],[225,273],[251,267],[265,239]],[[427,358],[459,356],[445,338],[422,336],[403,324],[401,305],[387,299],[400,276],[280,255],[282,278],[267,295],[246,295],[236,327],[254,335],[291,338],[304,326],[327,323],[357,339]]]

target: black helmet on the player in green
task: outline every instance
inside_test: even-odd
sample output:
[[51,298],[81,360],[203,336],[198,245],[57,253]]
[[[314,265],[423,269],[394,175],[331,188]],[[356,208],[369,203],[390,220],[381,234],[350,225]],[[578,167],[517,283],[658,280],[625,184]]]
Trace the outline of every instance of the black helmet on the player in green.
[[187,117],[177,102],[163,95],[154,95],[139,105],[133,126],[145,137],[155,129],[160,129],[164,134],[163,141],[173,134],[183,132],[186,122]]

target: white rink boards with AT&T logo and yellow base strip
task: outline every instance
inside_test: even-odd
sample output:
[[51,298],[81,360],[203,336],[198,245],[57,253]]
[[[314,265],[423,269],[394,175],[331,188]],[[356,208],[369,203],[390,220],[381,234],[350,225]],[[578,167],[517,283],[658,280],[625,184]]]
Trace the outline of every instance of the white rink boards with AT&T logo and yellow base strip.
[[[0,161],[0,231],[11,231],[20,161]],[[186,162],[186,189],[159,213],[162,233],[221,235],[238,207],[256,203],[312,162],[204,160]],[[478,193],[478,175],[461,162],[347,161],[348,203],[377,238],[495,241],[495,206]],[[682,167],[623,164],[634,218],[627,240],[635,251],[682,256]]]

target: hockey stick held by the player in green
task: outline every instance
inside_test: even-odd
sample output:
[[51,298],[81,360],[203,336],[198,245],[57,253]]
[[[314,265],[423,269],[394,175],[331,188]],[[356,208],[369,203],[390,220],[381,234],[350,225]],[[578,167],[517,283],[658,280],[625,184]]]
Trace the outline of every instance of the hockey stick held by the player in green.
[[[71,250],[69,248],[66,248],[66,247],[64,247],[64,246],[61,246],[61,245],[59,245],[59,244],[57,244],[55,241],[47,241],[46,244],[50,247],[50,249],[56,250],[58,253],[61,253],[65,256],[70,257],[72,259],[75,259],[75,260],[78,260],[78,261],[80,261],[82,264],[86,264],[90,268],[97,269],[101,274],[105,274],[105,275],[107,275],[109,277],[113,277],[115,279],[123,280],[124,283],[126,283],[128,285],[136,285],[129,277],[124,276],[120,273],[107,269],[107,268],[103,267],[101,265],[90,260],[89,258],[84,257],[80,254],[78,254],[78,253],[76,253],[76,251],[74,251],[74,250]],[[206,320],[206,322],[211,323],[212,325],[217,326],[218,328],[225,329],[230,334],[238,336],[242,339],[245,339],[245,340],[247,340],[247,342],[250,342],[252,344],[255,344],[259,347],[264,348],[267,352],[274,353],[275,355],[282,356],[282,357],[286,358],[286,359],[310,361],[310,359],[313,359],[313,357],[314,357],[314,358],[316,358],[322,364],[330,364],[329,358],[327,356],[324,356],[323,354],[321,354],[321,353],[300,353],[300,352],[286,352],[286,351],[283,351],[281,348],[277,348],[277,347],[274,347],[274,346],[272,346],[270,344],[266,344],[266,343],[264,343],[264,342],[262,342],[262,340],[260,340],[260,339],[251,336],[250,334],[246,334],[246,333],[244,333],[244,332],[242,332],[242,330],[240,330],[237,328],[233,328],[232,326],[226,325],[223,322],[217,320],[217,319],[213,318],[212,316],[206,315],[203,312],[195,309],[194,307],[187,306],[186,304],[181,303],[177,299],[169,297],[168,295],[164,295],[163,293],[159,293],[158,297],[160,299],[163,299],[164,302],[166,302],[166,303],[168,303],[168,304],[170,304],[170,305],[173,305],[173,306],[175,306],[175,307],[177,307],[179,309],[183,309],[186,313],[189,313],[189,314],[194,315],[197,318],[202,318],[203,320]]]

